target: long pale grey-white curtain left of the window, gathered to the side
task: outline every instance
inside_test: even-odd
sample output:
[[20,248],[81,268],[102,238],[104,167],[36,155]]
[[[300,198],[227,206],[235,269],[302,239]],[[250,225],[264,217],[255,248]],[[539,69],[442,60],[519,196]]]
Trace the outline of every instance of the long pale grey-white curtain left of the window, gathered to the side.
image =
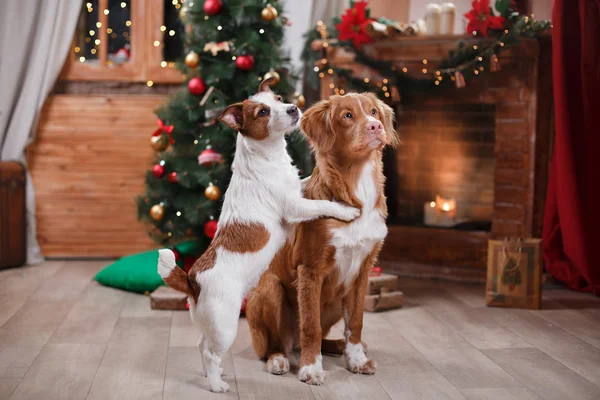
[[[0,160],[25,164],[37,119],[68,54],[82,0],[0,0]],[[27,174],[27,263],[43,261]]]

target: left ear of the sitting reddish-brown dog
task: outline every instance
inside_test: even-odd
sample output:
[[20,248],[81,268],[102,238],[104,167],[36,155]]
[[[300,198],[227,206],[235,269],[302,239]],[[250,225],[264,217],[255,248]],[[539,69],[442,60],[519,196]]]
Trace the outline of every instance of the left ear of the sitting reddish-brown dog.
[[315,150],[331,151],[335,142],[331,126],[331,101],[321,100],[306,110],[300,122],[300,129]]

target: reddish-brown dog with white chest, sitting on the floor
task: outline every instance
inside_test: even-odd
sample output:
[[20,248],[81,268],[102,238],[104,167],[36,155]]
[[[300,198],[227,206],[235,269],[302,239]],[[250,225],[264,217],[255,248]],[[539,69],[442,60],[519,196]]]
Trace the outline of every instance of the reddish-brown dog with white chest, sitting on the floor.
[[[361,209],[352,222],[299,224],[252,292],[246,314],[254,350],[267,371],[289,371],[300,345],[300,380],[324,380],[321,351],[343,354],[354,373],[373,374],[361,342],[368,274],[387,235],[382,149],[398,142],[391,107],[371,93],[332,96],[311,107],[301,128],[316,168],[309,199],[343,201]],[[340,319],[345,339],[324,339]]]

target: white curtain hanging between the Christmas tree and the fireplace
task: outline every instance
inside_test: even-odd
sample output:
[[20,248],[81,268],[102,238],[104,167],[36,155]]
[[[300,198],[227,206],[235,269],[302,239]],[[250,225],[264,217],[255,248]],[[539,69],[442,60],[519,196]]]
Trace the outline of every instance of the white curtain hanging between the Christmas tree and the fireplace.
[[[300,53],[304,47],[302,35],[317,25],[318,20],[329,22],[336,15],[342,14],[348,7],[349,0],[287,0],[284,4],[285,14],[292,22],[285,32],[284,48],[290,51],[292,65],[295,70],[302,69]],[[301,91],[302,82],[296,88]]]

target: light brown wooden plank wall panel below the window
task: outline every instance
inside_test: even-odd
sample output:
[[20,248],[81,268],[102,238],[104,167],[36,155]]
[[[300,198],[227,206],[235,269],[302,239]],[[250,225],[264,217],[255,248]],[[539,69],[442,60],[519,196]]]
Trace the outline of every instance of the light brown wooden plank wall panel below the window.
[[153,160],[154,95],[55,95],[28,158],[47,257],[117,257],[154,243],[134,197]]

